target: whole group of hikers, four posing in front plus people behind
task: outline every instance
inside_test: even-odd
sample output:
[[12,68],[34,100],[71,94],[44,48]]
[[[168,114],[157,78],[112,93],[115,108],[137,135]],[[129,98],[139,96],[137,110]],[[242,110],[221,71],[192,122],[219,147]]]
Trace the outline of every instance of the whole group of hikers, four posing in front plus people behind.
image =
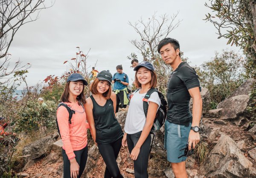
[[[173,38],[164,38],[158,44],[158,52],[163,61],[173,69],[167,84],[167,118],[165,121],[164,147],[167,160],[171,162],[176,178],[186,178],[186,153],[195,149],[200,140],[199,121],[201,119],[201,87],[196,72],[180,58],[179,42]],[[122,66],[116,66],[112,76],[107,70],[99,72],[90,84],[90,95],[84,95],[84,86],[88,85],[82,75],[73,73],[67,78],[67,84],[57,109],[57,123],[63,142],[64,178],[80,178],[87,162],[87,129],[106,164],[104,178],[123,178],[116,158],[121,146],[128,146],[130,157],[134,161],[135,178],[148,178],[148,160],[150,155],[150,131],[161,105],[158,92],[152,92],[145,100],[150,89],[157,86],[157,74],[149,62],[132,61],[137,90],[130,101],[124,95],[129,85],[128,76],[122,72]],[[111,84],[113,83],[113,89]],[[157,91],[157,90],[156,90]],[[192,113],[189,100],[193,98]],[[145,113],[143,102],[148,103]],[[116,119],[116,112],[127,106],[124,132]],[[87,122],[88,123],[87,123]]]

